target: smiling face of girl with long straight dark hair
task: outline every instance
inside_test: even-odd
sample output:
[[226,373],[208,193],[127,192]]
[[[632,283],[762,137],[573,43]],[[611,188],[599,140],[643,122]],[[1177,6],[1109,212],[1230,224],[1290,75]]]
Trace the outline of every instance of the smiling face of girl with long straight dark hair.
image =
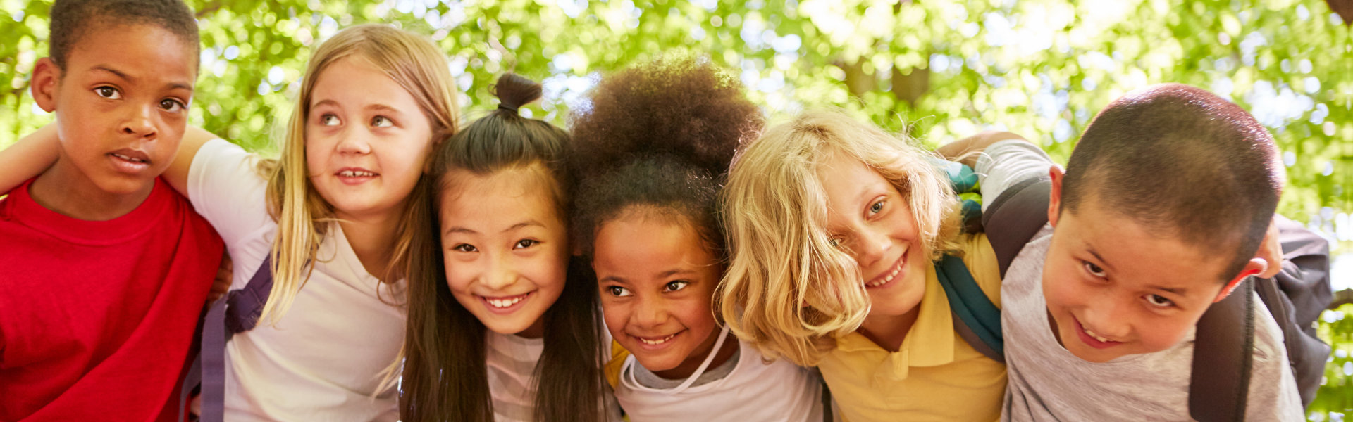
[[541,315],[564,291],[568,238],[541,164],[442,176],[446,283],[456,302],[499,334],[544,335]]

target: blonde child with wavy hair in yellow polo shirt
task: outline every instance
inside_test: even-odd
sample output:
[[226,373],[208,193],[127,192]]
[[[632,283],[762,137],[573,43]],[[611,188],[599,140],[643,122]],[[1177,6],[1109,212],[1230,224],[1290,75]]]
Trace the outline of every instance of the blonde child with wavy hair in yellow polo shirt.
[[934,265],[962,257],[997,306],[1000,272],[985,235],[959,233],[934,157],[808,112],[741,146],[724,188],[724,319],[770,357],[817,365],[852,422],[1000,417],[1005,367],[955,334]]

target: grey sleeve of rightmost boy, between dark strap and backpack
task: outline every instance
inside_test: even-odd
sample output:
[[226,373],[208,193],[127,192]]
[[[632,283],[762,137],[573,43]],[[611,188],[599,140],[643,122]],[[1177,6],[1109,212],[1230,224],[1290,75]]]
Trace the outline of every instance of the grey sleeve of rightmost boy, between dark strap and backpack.
[[1254,361],[1245,421],[1306,421],[1296,377],[1287,361],[1283,329],[1254,294]]

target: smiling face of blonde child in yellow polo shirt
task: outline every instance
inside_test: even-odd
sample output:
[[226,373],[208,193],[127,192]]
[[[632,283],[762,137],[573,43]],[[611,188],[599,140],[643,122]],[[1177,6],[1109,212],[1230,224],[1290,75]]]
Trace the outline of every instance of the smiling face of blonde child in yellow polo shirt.
[[925,294],[925,253],[916,219],[897,188],[865,162],[832,153],[819,169],[827,230],[859,265],[871,319],[902,316]]

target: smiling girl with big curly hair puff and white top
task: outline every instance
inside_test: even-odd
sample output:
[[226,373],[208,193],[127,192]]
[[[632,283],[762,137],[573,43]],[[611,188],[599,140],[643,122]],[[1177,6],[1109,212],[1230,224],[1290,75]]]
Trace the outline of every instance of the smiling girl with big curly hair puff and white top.
[[570,118],[579,170],[574,238],[606,327],[632,354],[616,398],[630,421],[821,421],[810,369],[767,362],[721,327],[727,252],[718,192],[759,110],[706,58],[668,55],[610,74]]

